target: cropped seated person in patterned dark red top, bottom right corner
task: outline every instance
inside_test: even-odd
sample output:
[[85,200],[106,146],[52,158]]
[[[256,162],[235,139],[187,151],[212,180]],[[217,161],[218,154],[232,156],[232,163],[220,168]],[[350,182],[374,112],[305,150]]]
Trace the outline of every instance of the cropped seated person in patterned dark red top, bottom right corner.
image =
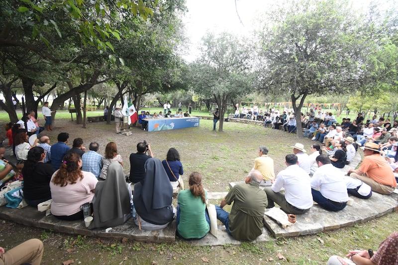
[[392,233],[379,246],[376,252],[373,250],[352,250],[346,258],[332,256],[327,265],[393,265],[398,260],[398,232]]

